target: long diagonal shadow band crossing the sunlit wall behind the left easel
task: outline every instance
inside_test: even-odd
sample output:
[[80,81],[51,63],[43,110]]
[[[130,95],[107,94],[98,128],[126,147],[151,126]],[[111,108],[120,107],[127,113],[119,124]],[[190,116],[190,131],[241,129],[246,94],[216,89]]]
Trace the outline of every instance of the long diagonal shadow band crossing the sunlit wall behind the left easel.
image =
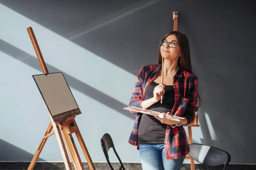
[[[29,65],[32,68],[37,69],[38,71],[41,71],[41,67],[39,65],[38,59],[31,56],[30,54],[27,54],[26,52],[16,48],[15,46],[0,40],[0,51],[3,53],[25,63],[26,65]],[[47,64],[47,68],[49,72],[61,72],[61,70],[58,70],[57,68],[53,67],[52,65]],[[101,102],[102,104],[118,111],[119,113],[122,113],[123,115],[135,119],[136,115],[133,114],[127,114],[127,112],[122,109],[127,107],[126,105],[122,104],[116,99],[113,99],[112,97],[96,90],[95,88],[85,84],[84,82],[81,82],[79,79],[76,79],[69,74],[63,73],[65,76],[65,79],[67,79],[68,85],[77,91],[80,91],[81,93],[89,96],[92,99],[97,100],[98,102]]]

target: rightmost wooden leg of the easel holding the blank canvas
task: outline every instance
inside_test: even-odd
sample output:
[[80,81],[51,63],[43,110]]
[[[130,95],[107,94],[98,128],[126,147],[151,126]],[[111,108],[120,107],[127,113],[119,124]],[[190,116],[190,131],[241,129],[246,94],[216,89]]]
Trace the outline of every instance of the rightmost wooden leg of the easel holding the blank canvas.
[[84,156],[85,156],[85,158],[86,158],[87,164],[89,165],[90,170],[95,170],[93,161],[92,161],[92,159],[91,159],[91,157],[90,157],[90,154],[89,154],[89,152],[88,152],[88,150],[87,150],[87,147],[86,147],[86,145],[85,145],[85,143],[84,143],[84,139],[83,139],[83,137],[82,137],[82,135],[81,135],[81,133],[80,133],[80,130],[79,130],[77,124],[76,124],[76,120],[73,119],[72,122],[73,122],[74,125],[77,127],[77,130],[75,131],[76,137],[77,137],[77,139],[78,139],[78,141],[79,141],[79,144],[80,144],[80,146],[81,146],[81,148],[82,148],[82,150],[83,150],[83,153],[84,153]]

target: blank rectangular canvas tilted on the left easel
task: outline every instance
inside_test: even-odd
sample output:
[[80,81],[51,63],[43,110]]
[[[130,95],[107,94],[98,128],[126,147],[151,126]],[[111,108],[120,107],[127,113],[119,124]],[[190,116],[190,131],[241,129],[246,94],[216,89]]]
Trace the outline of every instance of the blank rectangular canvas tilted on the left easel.
[[78,108],[62,72],[33,78],[52,116]]

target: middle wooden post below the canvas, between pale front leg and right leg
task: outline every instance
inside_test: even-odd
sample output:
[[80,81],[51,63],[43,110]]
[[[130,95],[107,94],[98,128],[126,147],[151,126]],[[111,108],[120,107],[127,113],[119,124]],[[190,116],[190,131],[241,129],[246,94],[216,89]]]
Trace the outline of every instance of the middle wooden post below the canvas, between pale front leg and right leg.
[[80,159],[78,150],[76,148],[76,144],[73,140],[73,136],[72,134],[68,134],[67,132],[69,131],[69,125],[66,124],[66,122],[63,122],[61,124],[59,124],[59,126],[61,127],[61,132],[64,135],[64,139],[65,142],[67,144],[71,159],[73,161],[73,165],[75,167],[76,170],[84,170],[84,166],[82,164],[82,161]]

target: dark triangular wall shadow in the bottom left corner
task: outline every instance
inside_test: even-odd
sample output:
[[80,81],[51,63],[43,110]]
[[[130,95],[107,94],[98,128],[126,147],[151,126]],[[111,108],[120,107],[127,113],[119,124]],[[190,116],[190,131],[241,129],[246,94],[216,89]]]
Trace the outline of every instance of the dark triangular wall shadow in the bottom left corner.
[[[31,161],[34,155],[0,139],[0,160],[1,161]],[[8,159],[6,159],[8,158]],[[38,158],[38,161],[45,161]]]

